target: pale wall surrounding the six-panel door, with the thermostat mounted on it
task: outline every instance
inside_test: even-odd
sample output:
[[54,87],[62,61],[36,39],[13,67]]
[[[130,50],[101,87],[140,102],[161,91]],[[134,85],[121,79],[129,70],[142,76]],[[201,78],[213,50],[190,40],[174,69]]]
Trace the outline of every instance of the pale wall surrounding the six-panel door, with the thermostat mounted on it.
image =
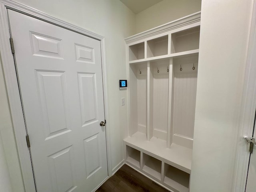
[[[128,125],[127,106],[121,106],[121,98],[127,98],[126,90],[119,90],[119,79],[127,79],[126,47],[124,38],[135,31],[135,14],[119,0],[14,0],[46,14],[80,26],[106,38],[106,64],[108,80],[107,128],[110,129],[111,160],[114,169],[124,159],[123,130]],[[15,192],[23,191],[22,177],[16,152],[11,118],[6,99],[4,79],[0,71],[0,132],[6,151],[6,160]],[[1,145],[1,142],[0,142]],[[2,172],[0,167],[0,172]],[[114,170],[113,170],[114,171]],[[6,190],[8,192],[8,190]]]

